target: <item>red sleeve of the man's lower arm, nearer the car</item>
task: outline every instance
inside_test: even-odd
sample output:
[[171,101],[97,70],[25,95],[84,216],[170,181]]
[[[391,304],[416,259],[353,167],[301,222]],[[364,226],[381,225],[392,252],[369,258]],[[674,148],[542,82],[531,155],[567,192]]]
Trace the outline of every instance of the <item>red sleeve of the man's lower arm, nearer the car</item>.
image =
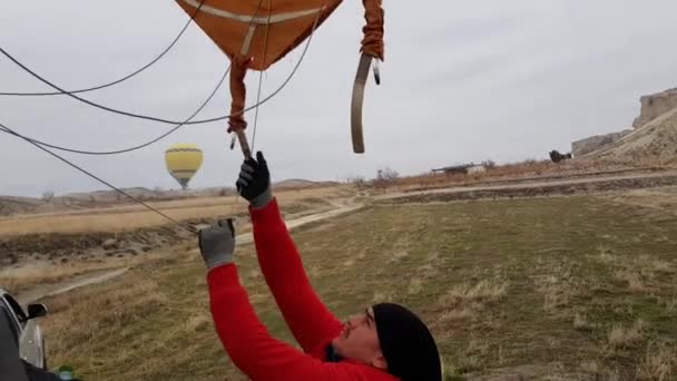
[[393,381],[387,373],[351,362],[322,362],[271,338],[256,318],[234,264],[207,275],[216,332],[235,365],[253,381]]

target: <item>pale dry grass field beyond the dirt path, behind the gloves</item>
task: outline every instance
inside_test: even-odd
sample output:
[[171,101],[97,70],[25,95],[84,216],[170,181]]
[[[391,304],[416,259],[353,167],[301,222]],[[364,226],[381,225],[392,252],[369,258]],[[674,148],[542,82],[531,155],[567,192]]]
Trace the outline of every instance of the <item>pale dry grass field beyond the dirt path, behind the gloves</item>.
[[[276,193],[283,212],[291,218],[335,208],[352,195],[353,189],[341,186]],[[190,223],[246,215],[246,202],[233,196],[153,206]],[[239,218],[237,228],[248,232],[247,218]],[[116,242],[115,248],[101,247],[107,240]],[[0,218],[0,286],[21,293],[92,272],[133,266],[164,255],[168,247],[187,240],[194,241],[181,228],[140,206],[4,217]]]

